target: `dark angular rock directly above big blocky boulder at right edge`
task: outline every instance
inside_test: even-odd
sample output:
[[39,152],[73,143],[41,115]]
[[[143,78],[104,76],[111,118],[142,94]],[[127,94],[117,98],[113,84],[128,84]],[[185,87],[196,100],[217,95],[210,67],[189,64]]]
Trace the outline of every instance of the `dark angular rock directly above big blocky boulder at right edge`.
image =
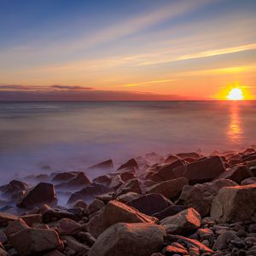
[[240,184],[247,177],[253,177],[253,172],[246,165],[238,165],[223,172],[218,178],[230,179]]

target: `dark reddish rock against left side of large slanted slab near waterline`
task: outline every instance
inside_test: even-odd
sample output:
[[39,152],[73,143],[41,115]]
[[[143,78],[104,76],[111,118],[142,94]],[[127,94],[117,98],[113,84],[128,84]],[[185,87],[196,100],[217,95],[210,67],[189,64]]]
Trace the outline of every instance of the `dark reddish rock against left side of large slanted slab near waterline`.
[[173,172],[173,169],[177,168],[178,166],[185,166],[184,161],[176,160],[171,164],[167,164],[165,166],[160,167],[160,169],[157,172],[154,172],[150,179],[160,182],[177,178],[175,173]]

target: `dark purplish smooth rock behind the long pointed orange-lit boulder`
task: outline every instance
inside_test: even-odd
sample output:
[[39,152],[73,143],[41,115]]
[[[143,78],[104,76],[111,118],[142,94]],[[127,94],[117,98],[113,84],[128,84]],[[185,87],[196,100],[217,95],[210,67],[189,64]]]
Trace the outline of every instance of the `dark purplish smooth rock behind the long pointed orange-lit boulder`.
[[171,206],[172,202],[160,194],[147,194],[129,201],[127,205],[136,208],[139,212],[143,212],[144,214],[153,215],[155,212],[161,212],[166,209],[166,207]]

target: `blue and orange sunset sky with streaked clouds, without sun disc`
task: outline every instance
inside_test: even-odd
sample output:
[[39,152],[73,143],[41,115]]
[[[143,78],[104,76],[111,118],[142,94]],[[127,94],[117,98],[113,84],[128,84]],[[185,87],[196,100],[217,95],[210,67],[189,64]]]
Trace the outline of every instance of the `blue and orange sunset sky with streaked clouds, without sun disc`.
[[254,0],[0,0],[0,101],[256,96]]

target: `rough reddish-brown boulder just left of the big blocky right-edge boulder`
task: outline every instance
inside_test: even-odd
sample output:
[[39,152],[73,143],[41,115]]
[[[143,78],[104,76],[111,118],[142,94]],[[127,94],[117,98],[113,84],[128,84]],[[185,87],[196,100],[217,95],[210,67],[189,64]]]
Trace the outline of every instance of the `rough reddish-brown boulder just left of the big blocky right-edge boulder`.
[[237,183],[229,179],[218,179],[212,183],[186,185],[178,200],[185,207],[193,207],[201,213],[202,217],[209,215],[212,207],[212,201],[218,190],[224,187],[236,186]]

